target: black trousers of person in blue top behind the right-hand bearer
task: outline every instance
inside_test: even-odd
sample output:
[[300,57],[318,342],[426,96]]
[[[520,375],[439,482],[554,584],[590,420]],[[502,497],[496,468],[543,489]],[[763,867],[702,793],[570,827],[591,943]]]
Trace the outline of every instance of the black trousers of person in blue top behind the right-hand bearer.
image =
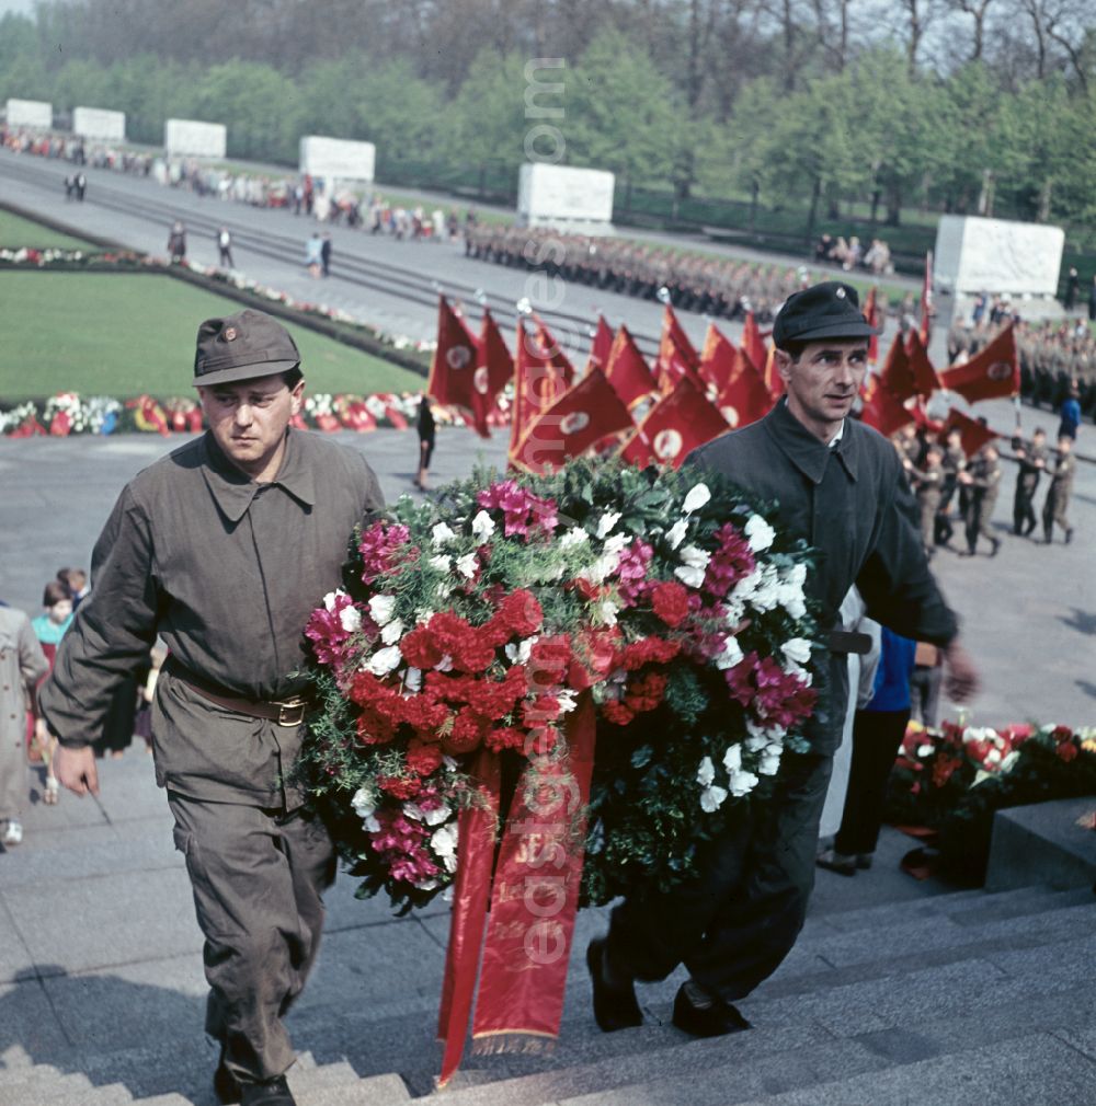
[[858,710],[852,720],[852,762],[841,828],[834,849],[851,856],[873,853],[882,825],[887,776],[910,720],[909,710]]

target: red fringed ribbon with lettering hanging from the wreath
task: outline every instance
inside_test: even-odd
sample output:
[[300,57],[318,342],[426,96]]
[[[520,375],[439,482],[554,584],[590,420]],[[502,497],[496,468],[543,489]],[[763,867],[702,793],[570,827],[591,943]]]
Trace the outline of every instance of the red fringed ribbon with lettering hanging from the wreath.
[[582,879],[594,721],[593,700],[583,691],[565,726],[566,759],[530,759],[494,873],[498,755],[484,748],[477,757],[474,775],[482,801],[463,811],[459,821],[461,860],[438,1016],[445,1042],[440,1086],[461,1064],[477,973],[474,1052],[528,1051],[530,1039],[544,1043],[559,1034]]

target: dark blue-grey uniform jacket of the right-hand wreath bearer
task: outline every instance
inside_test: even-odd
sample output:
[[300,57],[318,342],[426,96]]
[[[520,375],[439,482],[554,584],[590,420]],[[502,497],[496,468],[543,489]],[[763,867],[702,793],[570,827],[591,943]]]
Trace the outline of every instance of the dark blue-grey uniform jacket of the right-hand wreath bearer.
[[[945,645],[957,635],[955,616],[929,571],[901,461],[870,427],[846,419],[830,449],[780,400],[759,421],[695,449],[686,463],[775,500],[780,525],[819,551],[807,592],[821,606],[825,629],[837,624],[856,584],[869,617],[903,637]],[[848,697],[844,656],[831,658],[828,681],[829,702],[819,703],[807,728],[819,753],[833,753],[840,741]]]

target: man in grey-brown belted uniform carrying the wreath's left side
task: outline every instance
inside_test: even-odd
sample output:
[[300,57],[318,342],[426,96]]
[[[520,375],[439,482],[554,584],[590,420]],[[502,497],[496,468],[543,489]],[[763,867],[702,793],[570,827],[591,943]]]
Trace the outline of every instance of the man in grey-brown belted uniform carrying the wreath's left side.
[[302,738],[302,630],[341,583],[354,524],[382,505],[364,458],[289,428],[304,380],[289,333],[244,311],[198,330],[209,430],[139,472],[92,555],[91,597],[40,703],[56,774],[97,792],[91,743],[114,688],[164,639],[153,751],[206,938],[206,1029],[224,1103],[288,1106],[281,1018],[300,993],[334,878],[291,769]]

